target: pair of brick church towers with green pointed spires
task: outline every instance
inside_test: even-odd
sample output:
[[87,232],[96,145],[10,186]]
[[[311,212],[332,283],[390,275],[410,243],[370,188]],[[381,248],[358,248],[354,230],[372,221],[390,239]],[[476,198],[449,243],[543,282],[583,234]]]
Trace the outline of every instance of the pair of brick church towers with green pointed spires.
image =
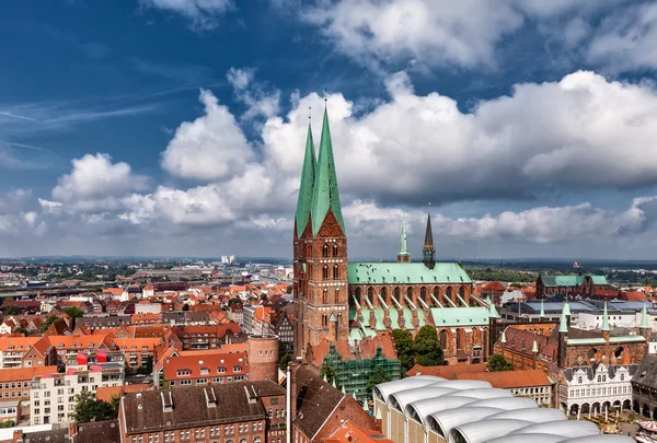
[[311,174],[313,163],[309,128],[295,220],[295,346],[301,357],[309,345],[345,341],[349,334],[347,237],[326,110]]

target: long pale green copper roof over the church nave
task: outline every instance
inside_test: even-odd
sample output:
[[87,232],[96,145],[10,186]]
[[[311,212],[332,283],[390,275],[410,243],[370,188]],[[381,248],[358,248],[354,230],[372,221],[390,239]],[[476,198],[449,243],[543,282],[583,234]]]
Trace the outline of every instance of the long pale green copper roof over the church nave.
[[[313,218],[314,222],[314,218]],[[349,263],[349,284],[468,283],[472,280],[458,263]],[[404,291],[402,291],[404,293]]]

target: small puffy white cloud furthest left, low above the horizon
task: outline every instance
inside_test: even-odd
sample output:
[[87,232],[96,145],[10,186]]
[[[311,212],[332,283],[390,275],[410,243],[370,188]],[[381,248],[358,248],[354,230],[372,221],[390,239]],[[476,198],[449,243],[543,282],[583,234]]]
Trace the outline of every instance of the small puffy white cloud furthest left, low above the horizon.
[[[71,163],[71,173],[59,177],[53,189],[53,200],[78,211],[116,210],[117,197],[148,187],[147,177],[132,174],[130,165],[125,162],[112,163],[108,154],[87,154]],[[56,207],[45,200],[42,205],[50,209]]]

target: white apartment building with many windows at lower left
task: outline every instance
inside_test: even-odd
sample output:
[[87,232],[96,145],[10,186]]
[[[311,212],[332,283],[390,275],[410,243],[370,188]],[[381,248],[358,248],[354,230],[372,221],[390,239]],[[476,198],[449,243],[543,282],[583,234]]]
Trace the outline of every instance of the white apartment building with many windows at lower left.
[[37,375],[31,383],[30,424],[69,422],[76,409],[76,395],[123,384],[124,366],[119,363],[69,366],[66,373]]

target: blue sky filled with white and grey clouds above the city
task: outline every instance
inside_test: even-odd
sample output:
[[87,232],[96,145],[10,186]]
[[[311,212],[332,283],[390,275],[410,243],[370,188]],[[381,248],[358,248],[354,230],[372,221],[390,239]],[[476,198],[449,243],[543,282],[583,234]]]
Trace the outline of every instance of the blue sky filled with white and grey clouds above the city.
[[349,255],[657,259],[657,3],[0,4],[0,256],[289,257],[326,91]]

